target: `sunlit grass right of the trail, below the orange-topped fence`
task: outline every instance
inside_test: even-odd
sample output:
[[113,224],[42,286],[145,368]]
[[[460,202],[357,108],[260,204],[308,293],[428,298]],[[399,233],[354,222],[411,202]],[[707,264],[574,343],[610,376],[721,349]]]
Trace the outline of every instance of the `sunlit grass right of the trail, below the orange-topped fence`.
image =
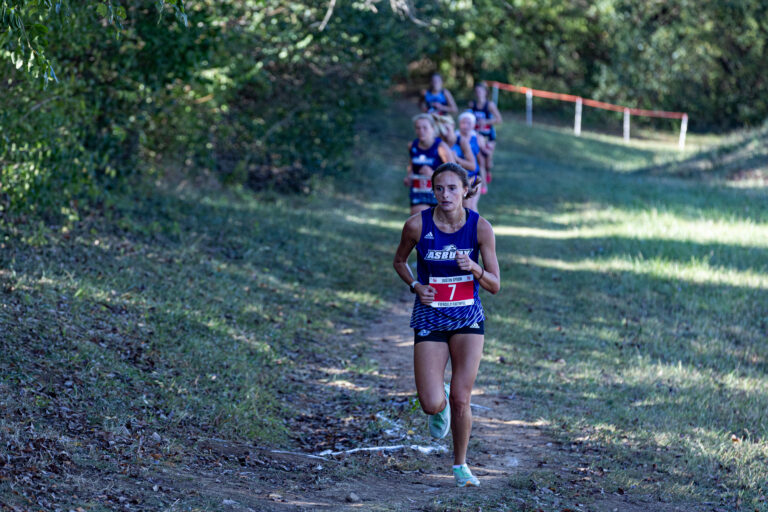
[[630,172],[686,156],[655,141],[499,140],[481,384],[596,443],[617,487],[768,509],[768,194]]

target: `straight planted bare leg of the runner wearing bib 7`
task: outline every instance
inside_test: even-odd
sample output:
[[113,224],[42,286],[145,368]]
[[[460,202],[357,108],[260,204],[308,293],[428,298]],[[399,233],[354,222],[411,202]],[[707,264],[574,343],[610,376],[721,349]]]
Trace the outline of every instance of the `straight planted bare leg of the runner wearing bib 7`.
[[470,397],[475,384],[480,358],[483,355],[482,334],[455,334],[451,337],[451,432],[453,433],[453,463],[467,461],[467,446],[472,432]]

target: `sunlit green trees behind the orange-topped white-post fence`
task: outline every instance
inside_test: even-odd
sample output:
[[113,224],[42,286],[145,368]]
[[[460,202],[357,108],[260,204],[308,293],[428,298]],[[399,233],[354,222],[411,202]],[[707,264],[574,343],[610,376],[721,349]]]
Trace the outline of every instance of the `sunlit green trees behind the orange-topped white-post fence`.
[[437,16],[428,57],[457,85],[496,79],[683,110],[699,130],[768,116],[760,0],[445,0]]

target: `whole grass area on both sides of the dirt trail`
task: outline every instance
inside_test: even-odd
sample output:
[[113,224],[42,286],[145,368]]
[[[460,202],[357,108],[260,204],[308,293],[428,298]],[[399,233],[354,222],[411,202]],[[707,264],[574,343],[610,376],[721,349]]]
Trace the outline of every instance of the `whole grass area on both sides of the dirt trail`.
[[[402,290],[402,127],[363,134],[354,175],[310,197],[139,186],[71,231],[9,228],[3,502],[205,509],[152,486],[99,489],[191,464],[210,438],[307,451],[375,439],[374,397],[326,386],[336,394],[317,404],[308,368],[375,369],[356,334]],[[589,451],[606,488],[768,510],[765,189],[676,177],[713,159],[660,143],[517,122],[500,141],[480,209],[503,286],[483,299],[478,384]],[[291,418],[313,409],[309,424],[359,434],[298,435]]]

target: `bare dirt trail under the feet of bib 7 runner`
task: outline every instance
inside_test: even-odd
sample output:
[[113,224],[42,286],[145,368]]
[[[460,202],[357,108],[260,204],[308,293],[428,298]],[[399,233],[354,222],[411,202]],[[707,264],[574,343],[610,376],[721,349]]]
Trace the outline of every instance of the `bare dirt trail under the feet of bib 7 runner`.
[[[364,333],[365,340],[370,344],[369,356],[378,362],[379,370],[375,377],[359,376],[352,385],[373,385],[382,397],[392,401],[415,396],[413,332],[408,327],[412,300],[412,295],[404,295]],[[658,501],[652,503],[650,497],[633,499],[628,495],[606,493],[595,481],[599,480],[599,476],[586,467],[585,454],[561,446],[549,434],[549,427],[544,422],[523,420],[519,412],[523,404],[514,396],[494,396],[482,387],[476,387],[472,404],[474,425],[470,464],[481,479],[479,489],[454,487],[450,451],[419,454],[405,449],[386,456],[358,453],[349,457],[366,461],[365,469],[359,473],[330,484],[280,494],[278,502],[262,502],[263,508],[259,510],[685,510]],[[382,439],[380,445],[429,444],[423,414],[418,411],[413,415],[416,418],[407,439],[393,442]],[[417,433],[418,429],[423,432]],[[441,444],[450,448],[450,436]],[[408,457],[411,462],[416,459],[418,464],[412,470],[393,468],[385,462],[389,457]],[[326,463],[321,461],[321,464]],[[541,481],[531,480],[530,475],[537,472],[551,475],[553,485],[544,487]],[[562,489],[558,487],[563,484],[569,487],[570,498],[559,497]],[[354,493],[360,501],[349,502],[350,493]],[[583,499],[573,498],[574,494]]]

